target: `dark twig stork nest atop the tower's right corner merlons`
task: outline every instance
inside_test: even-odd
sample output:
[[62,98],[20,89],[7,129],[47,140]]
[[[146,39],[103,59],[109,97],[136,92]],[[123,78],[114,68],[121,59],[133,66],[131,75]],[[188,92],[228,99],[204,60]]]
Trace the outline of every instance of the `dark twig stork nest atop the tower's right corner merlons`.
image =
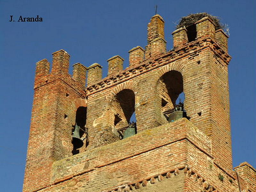
[[188,26],[195,24],[196,21],[199,21],[200,19],[203,19],[204,17],[209,17],[213,21],[213,23],[215,24],[215,30],[224,29],[224,25],[222,25],[220,23],[220,20],[217,17],[212,16],[205,12],[189,14],[186,17],[182,17],[180,20],[180,23],[176,26],[176,29],[184,27],[184,26],[185,26],[185,28],[187,28]]

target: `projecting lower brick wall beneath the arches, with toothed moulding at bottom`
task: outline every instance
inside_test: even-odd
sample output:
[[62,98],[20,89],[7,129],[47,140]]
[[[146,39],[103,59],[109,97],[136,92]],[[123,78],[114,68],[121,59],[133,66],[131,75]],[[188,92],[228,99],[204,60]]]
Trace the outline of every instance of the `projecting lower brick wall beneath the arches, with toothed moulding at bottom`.
[[[52,166],[52,185],[39,191],[168,188],[181,192],[212,188],[233,192],[236,180],[213,163],[211,147],[209,138],[182,118],[56,161]],[[219,180],[220,173],[225,177],[223,181]]]

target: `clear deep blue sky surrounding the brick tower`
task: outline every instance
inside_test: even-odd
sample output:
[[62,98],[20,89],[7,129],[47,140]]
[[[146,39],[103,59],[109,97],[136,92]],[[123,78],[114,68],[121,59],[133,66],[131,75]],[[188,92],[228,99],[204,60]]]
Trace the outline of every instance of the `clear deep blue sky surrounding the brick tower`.
[[[208,12],[228,24],[230,115],[233,165],[255,163],[255,0],[246,1],[0,1],[0,185],[21,191],[33,99],[35,63],[66,50],[70,64],[94,62],[107,74],[107,59],[145,47],[147,24],[158,13],[165,20],[167,49],[175,23],[189,13]],[[43,22],[9,22],[9,16],[43,18]],[[70,68],[70,72],[72,69]],[[43,142],[43,141],[42,141]]]

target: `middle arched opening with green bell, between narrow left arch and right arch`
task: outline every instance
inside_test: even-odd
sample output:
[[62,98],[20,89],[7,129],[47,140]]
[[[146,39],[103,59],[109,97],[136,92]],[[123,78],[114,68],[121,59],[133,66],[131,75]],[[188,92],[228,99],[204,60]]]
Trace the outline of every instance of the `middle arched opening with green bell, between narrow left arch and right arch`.
[[115,96],[114,126],[120,139],[125,139],[137,133],[135,115],[135,95],[130,89],[124,89]]

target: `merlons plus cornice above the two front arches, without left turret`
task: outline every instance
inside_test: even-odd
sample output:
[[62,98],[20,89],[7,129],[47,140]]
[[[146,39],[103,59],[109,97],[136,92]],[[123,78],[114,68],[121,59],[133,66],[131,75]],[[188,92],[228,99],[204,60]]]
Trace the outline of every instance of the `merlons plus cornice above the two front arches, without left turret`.
[[[95,89],[99,91],[100,87],[111,85],[111,82],[119,82],[119,80],[123,80],[125,77],[131,78],[131,76],[138,73],[135,69],[140,68],[139,71],[142,72],[142,68],[144,69],[145,65],[147,69],[151,68],[151,65],[157,65],[156,63],[159,63],[167,55],[172,55],[172,59],[175,59],[175,57],[182,55],[186,56],[193,50],[202,49],[204,46],[211,47],[228,64],[231,57],[227,52],[228,36],[224,31],[222,29],[215,31],[216,24],[209,17],[204,17],[196,21],[194,25],[195,28],[189,28],[189,31],[185,27],[182,27],[172,32],[173,49],[166,52],[164,20],[160,15],[153,16],[148,24],[148,45],[146,46],[146,51],[140,46],[132,48],[129,51],[129,67],[125,70],[123,70],[124,60],[120,56],[110,58],[108,60],[108,77],[101,80],[96,75],[97,80],[93,82],[97,82],[97,84],[88,84],[88,93],[90,94]],[[154,50],[157,50],[157,52]],[[119,58],[119,61],[117,61],[117,58]],[[148,60],[149,58],[150,60]]]

